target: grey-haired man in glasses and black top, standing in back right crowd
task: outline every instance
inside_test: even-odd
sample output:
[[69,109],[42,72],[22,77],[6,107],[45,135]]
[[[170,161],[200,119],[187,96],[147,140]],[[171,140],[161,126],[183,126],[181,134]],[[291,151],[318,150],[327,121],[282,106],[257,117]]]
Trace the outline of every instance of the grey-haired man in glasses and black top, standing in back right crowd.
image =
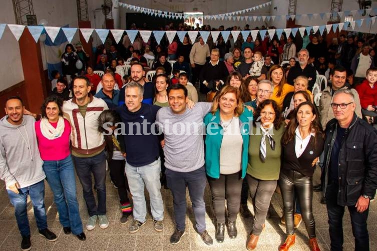
[[298,64],[289,69],[287,82],[290,85],[294,84],[297,76],[306,76],[309,79],[308,89],[311,90],[316,79],[315,68],[307,63],[309,59],[309,51],[307,49],[300,49],[298,51]]

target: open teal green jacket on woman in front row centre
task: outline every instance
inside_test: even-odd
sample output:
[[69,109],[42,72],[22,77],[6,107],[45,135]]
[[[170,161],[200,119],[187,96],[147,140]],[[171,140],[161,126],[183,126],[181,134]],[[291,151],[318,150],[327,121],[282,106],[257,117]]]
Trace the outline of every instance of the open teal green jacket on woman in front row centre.
[[[249,147],[249,124],[252,123],[253,113],[245,108],[242,114],[238,117],[240,121],[240,131],[242,134],[242,178],[246,175],[247,156]],[[249,123],[250,121],[250,123]],[[207,175],[213,178],[220,177],[220,147],[223,138],[223,128],[220,125],[220,111],[217,110],[213,115],[209,112],[204,117],[204,124],[206,125],[206,154],[205,166]],[[209,133],[210,132],[210,133]]]

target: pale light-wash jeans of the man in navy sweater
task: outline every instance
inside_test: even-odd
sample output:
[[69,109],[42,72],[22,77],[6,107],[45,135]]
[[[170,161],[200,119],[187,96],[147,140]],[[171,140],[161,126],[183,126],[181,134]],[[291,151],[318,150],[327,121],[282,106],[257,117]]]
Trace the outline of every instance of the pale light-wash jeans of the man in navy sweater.
[[126,159],[126,176],[134,204],[134,219],[145,221],[147,203],[145,202],[144,185],[147,187],[151,203],[152,217],[155,220],[164,219],[164,202],[161,196],[161,161],[160,158],[143,166],[132,166]]

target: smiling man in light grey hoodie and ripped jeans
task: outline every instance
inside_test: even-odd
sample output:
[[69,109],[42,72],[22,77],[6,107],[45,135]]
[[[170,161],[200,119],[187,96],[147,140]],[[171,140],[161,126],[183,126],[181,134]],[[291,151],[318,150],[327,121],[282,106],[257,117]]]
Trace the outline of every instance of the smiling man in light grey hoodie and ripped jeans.
[[34,117],[24,115],[24,105],[19,96],[7,99],[7,113],[0,120],[0,179],[6,182],[9,199],[15,207],[15,215],[21,235],[22,250],[32,248],[27,213],[28,194],[33,202],[39,233],[49,241],[57,236],[47,228],[45,209],[46,177],[42,164]]

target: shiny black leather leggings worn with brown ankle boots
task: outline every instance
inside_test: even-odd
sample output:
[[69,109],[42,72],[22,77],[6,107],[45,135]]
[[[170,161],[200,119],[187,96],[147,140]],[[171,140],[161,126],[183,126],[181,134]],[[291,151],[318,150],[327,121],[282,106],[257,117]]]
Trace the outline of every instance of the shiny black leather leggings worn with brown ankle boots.
[[280,172],[279,186],[283,197],[284,216],[287,234],[294,231],[294,194],[297,194],[301,205],[301,215],[305,222],[310,238],[315,237],[315,222],[313,217],[313,181],[312,177],[304,176],[298,171],[289,170]]

